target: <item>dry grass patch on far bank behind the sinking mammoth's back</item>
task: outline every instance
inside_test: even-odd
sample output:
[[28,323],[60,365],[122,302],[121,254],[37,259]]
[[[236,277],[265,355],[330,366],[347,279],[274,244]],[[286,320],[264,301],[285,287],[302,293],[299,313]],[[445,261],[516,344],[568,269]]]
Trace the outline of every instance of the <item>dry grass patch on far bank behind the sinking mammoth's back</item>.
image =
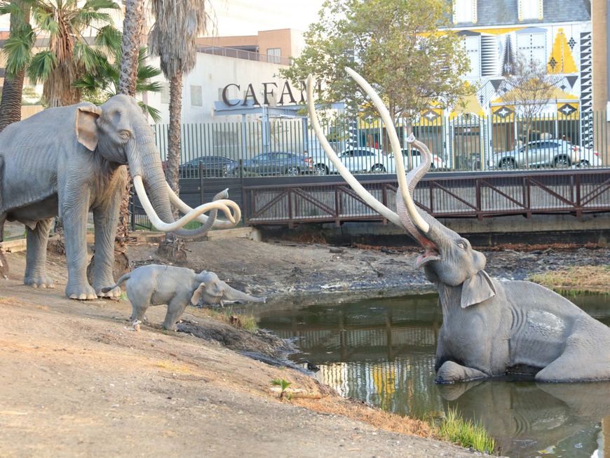
[[582,292],[610,292],[610,266],[578,266],[569,269],[545,271],[529,278],[557,292],[579,294]]

